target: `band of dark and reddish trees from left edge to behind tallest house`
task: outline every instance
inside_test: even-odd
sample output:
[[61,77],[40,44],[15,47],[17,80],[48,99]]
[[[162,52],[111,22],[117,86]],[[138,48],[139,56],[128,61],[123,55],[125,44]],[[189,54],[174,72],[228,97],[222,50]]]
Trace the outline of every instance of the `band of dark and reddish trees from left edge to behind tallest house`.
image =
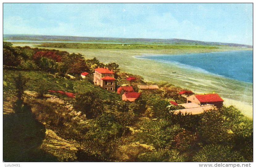
[[[43,70],[60,75],[79,76],[82,72],[93,72],[98,66],[109,67],[119,72],[116,63],[103,64],[97,58],[85,59],[82,54],[69,54],[66,51],[47,50],[25,47],[13,47],[3,42],[3,65],[18,67],[23,70]],[[118,73],[116,73],[116,78]]]

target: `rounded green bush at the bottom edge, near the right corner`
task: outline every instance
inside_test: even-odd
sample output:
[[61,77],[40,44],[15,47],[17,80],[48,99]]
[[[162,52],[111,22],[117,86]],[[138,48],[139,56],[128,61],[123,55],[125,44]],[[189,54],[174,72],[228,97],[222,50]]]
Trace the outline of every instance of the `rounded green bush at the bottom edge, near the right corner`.
[[230,146],[206,145],[194,156],[195,162],[245,162],[242,155]]

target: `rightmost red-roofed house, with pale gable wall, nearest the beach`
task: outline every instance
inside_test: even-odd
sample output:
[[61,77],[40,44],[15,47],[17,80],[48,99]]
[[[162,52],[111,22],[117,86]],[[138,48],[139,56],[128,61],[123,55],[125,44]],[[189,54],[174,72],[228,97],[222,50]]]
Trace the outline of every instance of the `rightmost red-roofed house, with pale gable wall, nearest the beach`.
[[224,100],[218,94],[194,94],[187,97],[187,103],[194,102],[199,106],[211,104],[220,108],[223,106]]

